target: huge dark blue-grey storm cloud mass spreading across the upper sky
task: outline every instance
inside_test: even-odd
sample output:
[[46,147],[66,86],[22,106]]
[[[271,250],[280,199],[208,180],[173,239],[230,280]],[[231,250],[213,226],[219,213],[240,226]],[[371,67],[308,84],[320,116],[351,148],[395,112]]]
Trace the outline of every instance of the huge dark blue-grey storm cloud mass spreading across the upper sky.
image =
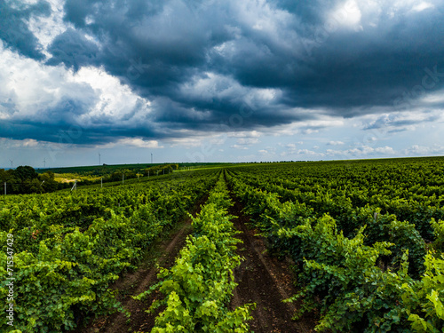
[[[153,102],[151,125],[120,130],[112,119],[102,122],[112,135],[150,139],[178,136],[172,129],[226,129],[246,103],[253,112],[241,126],[254,130],[326,114],[404,111],[412,100],[444,88],[442,1],[423,12],[380,1],[378,11],[361,2],[359,15],[350,9],[332,14],[344,3],[67,0],[64,20],[74,28],[52,41],[46,64],[103,67],[129,84]],[[40,7],[44,2],[21,16],[8,14],[10,25]],[[39,58],[36,38],[29,31],[23,36],[36,54],[19,40],[8,43]],[[279,93],[261,99],[266,89]],[[392,126],[408,125],[400,122]]]

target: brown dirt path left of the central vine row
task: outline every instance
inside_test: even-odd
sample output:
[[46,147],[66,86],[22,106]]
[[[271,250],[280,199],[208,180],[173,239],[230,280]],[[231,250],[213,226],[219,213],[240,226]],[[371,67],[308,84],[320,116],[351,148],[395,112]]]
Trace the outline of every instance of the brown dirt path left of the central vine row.
[[[195,204],[192,212],[194,217],[207,198],[208,195]],[[119,290],[117,299],[122,303],[123,308],[131,313],[130,318],[121,312],[100,316],[91,320],[86,327],[75,329],[72,333],[149,332],[155,326],[155,317],[160,311],[155,313],[145,311],[153,303],[155,297],[160,297],[160,295],[155,292],[144,301],[134,300],[131,296],[139,295],[158,281],[158,269],[155,263],[166,268],[174,265],[178,252],[185,246],[186,237],[191,232],[191,218],[186,218],[170,233],[165,234],[163,241],[154,244],[137,271],[123,274],[123,277],[111,287]]]

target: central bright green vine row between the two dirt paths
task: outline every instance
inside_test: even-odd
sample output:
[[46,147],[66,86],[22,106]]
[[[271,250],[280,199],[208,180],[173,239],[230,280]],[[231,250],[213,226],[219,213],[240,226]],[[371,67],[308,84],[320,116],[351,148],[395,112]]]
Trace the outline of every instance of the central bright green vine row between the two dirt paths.
[[193,218],[194,235],[186,240],[175,265],[163,269],[161,282],[135,297],[141,299],[154,289],[165,298],[151,310],[166,305],[155,319],[152,332],[248,332],[246,321],[255,305],[228,310],[236,286],[234,268],[241,258],[235,255],[233,223],[226,208],[231,205],[221,179],[210,193],[200,214]]

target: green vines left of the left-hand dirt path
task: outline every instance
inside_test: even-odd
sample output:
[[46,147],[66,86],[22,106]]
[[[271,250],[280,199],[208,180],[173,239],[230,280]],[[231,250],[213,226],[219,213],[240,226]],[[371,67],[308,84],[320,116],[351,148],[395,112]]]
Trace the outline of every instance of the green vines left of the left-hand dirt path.
[[13,234],[14,327],[60,332],[75,329],[80,314],[122,310],[110,283],[216,181],[202,172],[162,184],[0,198],[0,300],[6,310],[6,237]]

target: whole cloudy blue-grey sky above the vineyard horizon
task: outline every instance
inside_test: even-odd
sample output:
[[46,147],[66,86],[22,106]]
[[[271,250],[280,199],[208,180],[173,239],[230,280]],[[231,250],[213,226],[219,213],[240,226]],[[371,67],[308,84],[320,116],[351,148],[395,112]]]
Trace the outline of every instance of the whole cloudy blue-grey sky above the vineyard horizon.
[[0,167],[444,155],[443,83],[444,0],[3,0]]

